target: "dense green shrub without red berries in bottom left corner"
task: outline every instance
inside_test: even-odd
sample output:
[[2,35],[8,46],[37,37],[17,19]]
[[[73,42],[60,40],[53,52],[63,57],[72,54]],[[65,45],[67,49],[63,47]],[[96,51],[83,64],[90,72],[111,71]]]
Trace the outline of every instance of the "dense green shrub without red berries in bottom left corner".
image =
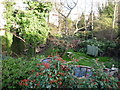
[[28,77],[36,62],[35,58],[5,58],[2,61],[2,88],[17,88],[19,80]]

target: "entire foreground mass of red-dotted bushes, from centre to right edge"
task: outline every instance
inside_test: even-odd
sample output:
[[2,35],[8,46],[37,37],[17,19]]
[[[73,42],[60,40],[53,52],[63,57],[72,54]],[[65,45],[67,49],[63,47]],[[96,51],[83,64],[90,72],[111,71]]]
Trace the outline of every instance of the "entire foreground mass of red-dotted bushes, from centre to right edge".
[[[117,88],[118,80],[103,72],[102,65],[95,65],[95,68],[86,69],[68,65],[58,56],[43,59],[36,65],[36,69],[31,71],[31,75],[21,80],[19,85],[22,88]],[[79,76],[75,72],[76,67],[87,72]],[[78,78],[83,76],[89,78]]]

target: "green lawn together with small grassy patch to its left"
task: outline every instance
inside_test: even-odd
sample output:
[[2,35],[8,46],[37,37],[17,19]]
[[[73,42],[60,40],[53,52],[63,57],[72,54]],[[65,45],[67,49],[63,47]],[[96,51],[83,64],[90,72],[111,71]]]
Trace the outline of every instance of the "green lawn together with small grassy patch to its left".
[[[56,52],[60,52],[59,49],[55,49],[53,50],[52,48],[49,48],[48,50],[46,50],[46,52],[44,52],[43,55],[50,55],[53,54],[53,56],[55,56]],[[72,52],[72,54],[70,56],[68,56],[69,54],[67,52]],[[93,56],[89,56],[85,53],[80,53],[80,52],[74,52],[73,49],[69,49],[67,50],[64,55],[62,56],[62,58],[66,61],[72,61],[73,59],[78,59],[79,61],[77,63],[75,62],[71,62],[69,64],[74,64],[74,65],[84,65],[84,66],[90,66],[92,67],[94,64],[94,61],[98,58],[100,63],[104,63],[104,65],[107,68],[111,68],[112,65],[114,64],[116,67],[120,67],[120,65],[118,65],[118,62],[116,62],[115,60],[113,60],[110,57],[93,57]]]

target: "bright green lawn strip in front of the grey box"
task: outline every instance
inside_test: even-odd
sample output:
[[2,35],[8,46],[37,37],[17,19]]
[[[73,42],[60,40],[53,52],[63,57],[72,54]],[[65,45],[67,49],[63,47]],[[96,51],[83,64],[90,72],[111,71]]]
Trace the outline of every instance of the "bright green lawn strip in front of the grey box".
[[75,61],[70,62],[69,64],[75,64],[75,65],[84,65],[84,66],[90,66],[92,67],[94,64],[94,61],[98,58],[98,62],[104,63],[104,65],[107,68],[111,68],[113,64],[115,64],[116,67],[118,67],[115,60],[113,60],[111,57],[92,57],[85,53],[80,52],[74,52],[72,50],[69,50],[69,52],[72,52],[72,58],[68,57],[67,53],[62,57],[66,61],[72,61],[73,59],[78,59],[79,61],[75,63]]

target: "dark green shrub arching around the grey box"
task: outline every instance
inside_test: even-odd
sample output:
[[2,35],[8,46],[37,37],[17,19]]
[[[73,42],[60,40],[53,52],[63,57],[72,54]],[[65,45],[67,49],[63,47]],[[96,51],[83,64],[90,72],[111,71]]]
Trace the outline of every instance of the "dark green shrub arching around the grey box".
[[111,49],[114,49],[117,47],[117,44],[115,42],[111,41],[98,41],[97,39],[89,39],[89,40],[84,40],[81,43],[79,43],[79,52],[86,53],[87,51],[87,45],[94,45],[99,48],[99,54],[100,55],[107,55],[110,53],[109,51]]

